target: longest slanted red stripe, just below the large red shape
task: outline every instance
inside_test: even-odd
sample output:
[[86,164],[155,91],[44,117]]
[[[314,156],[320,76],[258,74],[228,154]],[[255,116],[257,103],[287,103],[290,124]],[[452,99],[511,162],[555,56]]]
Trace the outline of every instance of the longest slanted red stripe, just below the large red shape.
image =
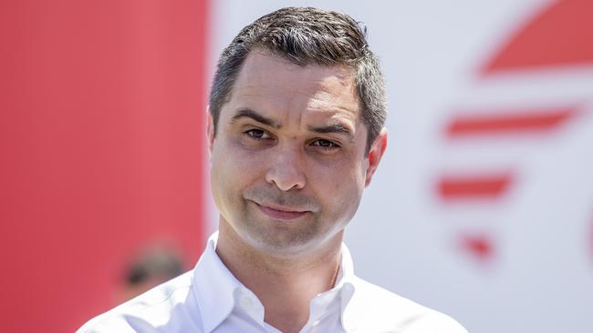
[[567,107],[513,114],[458,116],[448,124],[446,133],[449,137],[456,137],[545,132],[562,126],[576,116],[575,110],[575,107]]

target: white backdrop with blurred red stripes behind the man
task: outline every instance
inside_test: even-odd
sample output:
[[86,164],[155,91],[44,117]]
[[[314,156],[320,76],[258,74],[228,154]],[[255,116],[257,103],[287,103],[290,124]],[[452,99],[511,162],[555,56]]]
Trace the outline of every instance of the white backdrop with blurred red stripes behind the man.
[[285,5],[366,23],[387,79],[390,143],[346,237],[359,276],[471,332],[593,332],[593,58],[484,70],[555,4],[214,1],[211,68]]

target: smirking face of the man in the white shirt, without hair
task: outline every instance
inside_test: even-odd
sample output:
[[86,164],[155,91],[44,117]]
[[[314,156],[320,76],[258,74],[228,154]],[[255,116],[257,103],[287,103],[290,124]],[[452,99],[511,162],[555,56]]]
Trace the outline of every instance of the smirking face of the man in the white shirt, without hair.
[[365,152],[353,74],[248,55],[215,137],[209,126],[221,232],[276,256],[341,239],[385,144]]

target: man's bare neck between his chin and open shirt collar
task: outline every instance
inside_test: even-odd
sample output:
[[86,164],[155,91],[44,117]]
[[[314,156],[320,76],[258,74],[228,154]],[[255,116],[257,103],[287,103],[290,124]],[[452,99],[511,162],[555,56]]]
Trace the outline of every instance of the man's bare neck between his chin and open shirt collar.
[[234,277],[260,299],[265,322],[282,332],[298,332],[317,294],[333,288],[338,276],[343,231],[321,247],[275,257],[251,247],[221,221],[216,253]]

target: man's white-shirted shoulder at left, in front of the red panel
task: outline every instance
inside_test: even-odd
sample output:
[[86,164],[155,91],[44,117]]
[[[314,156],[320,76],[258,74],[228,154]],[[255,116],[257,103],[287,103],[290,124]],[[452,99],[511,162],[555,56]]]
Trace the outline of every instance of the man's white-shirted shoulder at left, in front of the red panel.
[[[88,320],[77,333],[103,332],[156,332],[169,326],[196,325],[187,312],[194,303],[192,298],[192,272],[182,274],[116,308]],[[164,331],[177,331],[164,329]],[[194,328],[199,332],[200,329]]]

